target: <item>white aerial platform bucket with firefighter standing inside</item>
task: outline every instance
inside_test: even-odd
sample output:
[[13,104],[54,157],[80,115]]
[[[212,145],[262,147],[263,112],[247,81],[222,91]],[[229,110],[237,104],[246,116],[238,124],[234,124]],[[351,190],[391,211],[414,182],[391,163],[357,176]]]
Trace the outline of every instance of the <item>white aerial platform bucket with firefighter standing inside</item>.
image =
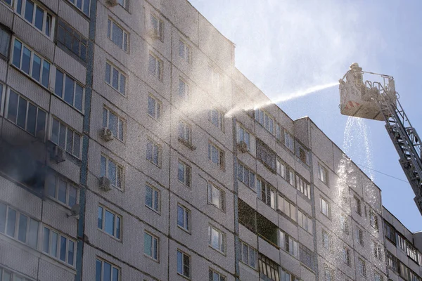
[[362,68],[353,64],[350,69],[345,77],[340,79],[341,114],[383,121],[381,103],[385,98],[391,98],[392,102],[396,103],[394,80],[391,77],[384,85],[369,81],[364,83]]

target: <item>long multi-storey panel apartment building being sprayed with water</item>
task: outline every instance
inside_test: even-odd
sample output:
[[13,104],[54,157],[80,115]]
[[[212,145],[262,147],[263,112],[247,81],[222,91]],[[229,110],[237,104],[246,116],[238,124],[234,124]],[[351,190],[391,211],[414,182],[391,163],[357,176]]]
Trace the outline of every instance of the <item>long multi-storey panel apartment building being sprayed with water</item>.
[[420,235],[186,0],[0,0],[0,102],[1,281],[421,280]]

